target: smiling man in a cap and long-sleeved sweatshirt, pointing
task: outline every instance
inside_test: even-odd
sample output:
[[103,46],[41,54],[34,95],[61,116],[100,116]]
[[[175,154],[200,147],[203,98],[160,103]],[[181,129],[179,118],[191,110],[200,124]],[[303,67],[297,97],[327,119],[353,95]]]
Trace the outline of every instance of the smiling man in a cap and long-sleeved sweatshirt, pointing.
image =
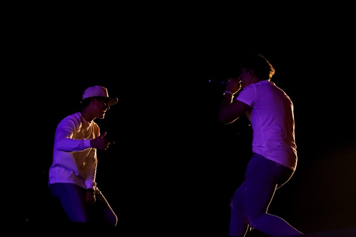
[[116,226],[117,217],[95,183],[96,149],[106,150],[113,141],[100,135],[95,118],[103,119],[117,98],[92,86],[83,93],[82,111],[59,122],[54,137],[49,188],[71,222]]

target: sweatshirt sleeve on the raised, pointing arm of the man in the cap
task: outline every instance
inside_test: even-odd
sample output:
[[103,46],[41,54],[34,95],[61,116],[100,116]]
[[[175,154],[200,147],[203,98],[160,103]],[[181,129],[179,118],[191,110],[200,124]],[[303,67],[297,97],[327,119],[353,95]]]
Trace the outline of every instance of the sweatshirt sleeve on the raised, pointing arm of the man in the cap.
[[72,139],[75,131],[75,123],[71,119],[62,120],[56,130],[54,149],[64,152],[84,151],[90,148],[90,140]]

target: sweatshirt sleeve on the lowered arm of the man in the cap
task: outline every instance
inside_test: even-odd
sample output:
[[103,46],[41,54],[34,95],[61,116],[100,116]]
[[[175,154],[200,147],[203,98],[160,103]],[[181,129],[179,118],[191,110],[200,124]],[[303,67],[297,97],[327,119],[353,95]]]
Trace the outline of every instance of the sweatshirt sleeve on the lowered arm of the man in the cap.
[[[100,136],[99,127],[98,127],[98,135],[96,135],[95,137],[97,138],[98,136]],[[95,174],[96,174],[97,163],[98,163],[98,159],[96,158],[96,149],[92,148],[88,156],[85,158],[85,162],[84,162],[84,173],[85,173],[84,185],[87,189],[88,188],[94,189],[96,187]]]

